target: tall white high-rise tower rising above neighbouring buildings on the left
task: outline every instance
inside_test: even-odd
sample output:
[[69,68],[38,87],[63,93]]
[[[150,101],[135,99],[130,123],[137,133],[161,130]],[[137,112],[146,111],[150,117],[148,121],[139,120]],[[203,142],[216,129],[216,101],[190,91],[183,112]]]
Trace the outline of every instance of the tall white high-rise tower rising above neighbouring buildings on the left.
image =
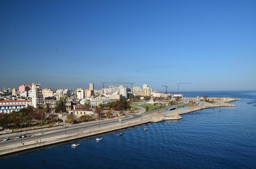
[[37,107],[37,105],[43,105],[43,94],[42,89],[40,89],[39,83],[32,83],[31,85],[31,97],[32,106]]

